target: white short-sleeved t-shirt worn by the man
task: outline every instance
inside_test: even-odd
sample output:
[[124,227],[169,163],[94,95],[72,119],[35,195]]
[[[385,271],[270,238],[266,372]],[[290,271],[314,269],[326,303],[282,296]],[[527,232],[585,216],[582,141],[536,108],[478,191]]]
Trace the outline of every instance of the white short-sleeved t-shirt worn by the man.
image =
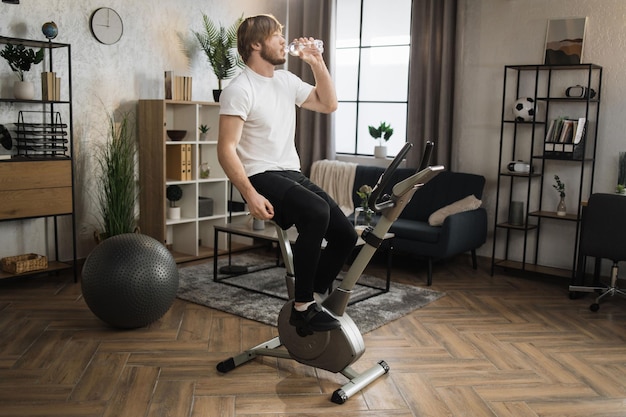
[[244,120],[237,154],[248,177],[265,171],[300,170],[294,143],[296,108],[313,86],[285,70],[271,78],[248,67],[220,95],[220,114]]

